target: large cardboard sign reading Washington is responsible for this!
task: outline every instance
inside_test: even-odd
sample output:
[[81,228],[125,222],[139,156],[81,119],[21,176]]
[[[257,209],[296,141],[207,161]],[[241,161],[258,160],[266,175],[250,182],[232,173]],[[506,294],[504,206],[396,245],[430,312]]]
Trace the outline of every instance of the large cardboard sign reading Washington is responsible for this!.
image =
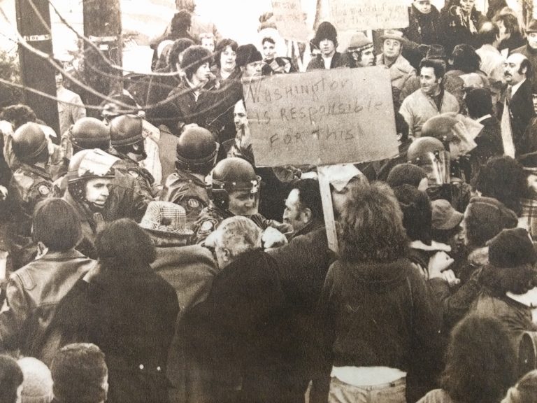
[[244,83],[255,162],[341,164],[398,153],[384,66],[280,74]]

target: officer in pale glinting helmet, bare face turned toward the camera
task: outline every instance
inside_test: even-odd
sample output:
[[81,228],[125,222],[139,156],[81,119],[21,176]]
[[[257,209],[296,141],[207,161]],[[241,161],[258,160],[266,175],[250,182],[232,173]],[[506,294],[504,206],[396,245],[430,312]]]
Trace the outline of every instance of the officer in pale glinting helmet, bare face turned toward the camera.
[[119,161],[94,149],[76,153],[69,162],[64,200],[75,208],[82,222],[83,239],[76,248],[92,259],[96,259],[96,234],[104,225],[103,211],[115,178],[113,167]]

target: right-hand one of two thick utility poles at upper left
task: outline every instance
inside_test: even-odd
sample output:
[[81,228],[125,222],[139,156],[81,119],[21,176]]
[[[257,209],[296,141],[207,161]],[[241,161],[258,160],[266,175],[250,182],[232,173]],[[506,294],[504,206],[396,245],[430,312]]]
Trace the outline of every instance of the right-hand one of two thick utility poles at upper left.
[[[120,0],[83,0],[84,35],[111,64],[122,65]],[[84,74],[87,85],[101,94],[110,95],[123,90],[122,73],[112,69],[91,45],[84,47]],[[102,99],[88,94],[87,104],[99,105]],[[99,111],[87,111],[99,117]]]

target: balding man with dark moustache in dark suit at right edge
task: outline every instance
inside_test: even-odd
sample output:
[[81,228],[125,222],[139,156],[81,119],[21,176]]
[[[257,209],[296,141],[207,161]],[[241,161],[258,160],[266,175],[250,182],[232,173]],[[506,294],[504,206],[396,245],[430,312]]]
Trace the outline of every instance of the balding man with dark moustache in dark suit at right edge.
[[515,154],[524,153],[520,149],[521,141],[529,122],[535,117],[534,104],[531,97],[531,81],[529,80],[532,74],[533,69],[529,59],[521,53],[513,53],[503,64],[503,76],[508,83],[505,93],[505,107],[508,108]]

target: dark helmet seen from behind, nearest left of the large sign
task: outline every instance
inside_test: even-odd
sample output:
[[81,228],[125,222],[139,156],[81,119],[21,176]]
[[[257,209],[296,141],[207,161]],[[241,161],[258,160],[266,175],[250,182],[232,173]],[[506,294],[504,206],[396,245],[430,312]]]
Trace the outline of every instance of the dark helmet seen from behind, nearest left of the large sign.
[[207,176],[215,166],[219,146],[207,129],[186,127],[177,143],[177,169]]

